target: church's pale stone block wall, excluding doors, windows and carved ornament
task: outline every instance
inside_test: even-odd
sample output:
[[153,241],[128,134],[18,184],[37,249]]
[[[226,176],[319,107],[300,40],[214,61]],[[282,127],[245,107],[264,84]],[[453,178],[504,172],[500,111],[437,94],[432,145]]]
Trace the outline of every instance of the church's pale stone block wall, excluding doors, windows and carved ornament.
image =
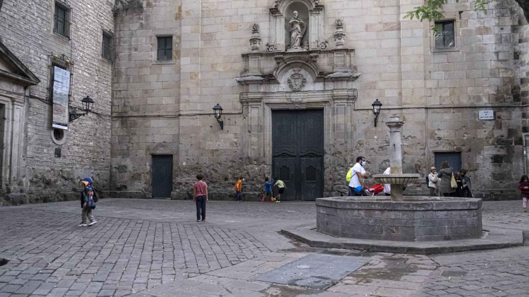
[[[354,70],[362,73],[346,86],[358,89],[358,99],[353,102],[334,94],[325,106],[332,121],[325,130],[329,139],[324,195],[346,191],[345,174],[359,155],[368,159],[370,173],[384,171],[389,162],[384,121],[398,113],[405,121],[405,173],[424,176],[436,151],[458,151],[477,197],[517,198],[526,118],[519,107],[526,90],[518,74],[522,11],[514,2],[500,0],[491,3],[485,15],[474,11],[472,2],[451,1],[445,14],[455,20],[456,47],[437,51],[431,24],[401,20],[421,3],[322,2],[323,34],[330,49],[335,48],[334,22],[342,18],[347,34],[344,47],[354,49]],[[259,197],[263,177],[271,171],[266,136],[270,122],[263,93],[279,94],[286,87],[242,85],[234,78],[248,71],[242,55],[251,52],[253,23],[260,25],[261,53],[266,43],[273,42],[272,4],[271,0],[148,1],[144,9],[118,16],[112,130],[115,195],[151,197],[150,155],[172,154],[175,198],[190,197],[199,171],[214,198],[230,198],[239,175],[247,178],[243,186],[247,198]],[[174,64],[158,65],[153,58],[156,35],[167,30],[174,32]],[[272,75],[275,61],[262,59],[262,74]],[[330,59],[322,55],[316,64],[329,71]],[[320,83],[311,88],[337,88],[334,82]],[[375,99],[384,104],[376,128],[371,111]],[[342,104],[340,100],[342,106],[333,105]],[[224,108],[224,130],[212,116],[216,103]],[[494,110],[495,119],[478,120],[480,110]],[[418,195],[426,190],[419,184],[407,191]]]

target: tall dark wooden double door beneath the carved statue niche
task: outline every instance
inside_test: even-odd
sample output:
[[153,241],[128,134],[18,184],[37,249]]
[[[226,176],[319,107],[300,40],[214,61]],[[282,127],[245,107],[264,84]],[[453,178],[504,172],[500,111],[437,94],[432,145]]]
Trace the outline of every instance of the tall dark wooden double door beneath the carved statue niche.
[[323,110],[272,111],[272,177],[284,181],[281,200],[323,196]]

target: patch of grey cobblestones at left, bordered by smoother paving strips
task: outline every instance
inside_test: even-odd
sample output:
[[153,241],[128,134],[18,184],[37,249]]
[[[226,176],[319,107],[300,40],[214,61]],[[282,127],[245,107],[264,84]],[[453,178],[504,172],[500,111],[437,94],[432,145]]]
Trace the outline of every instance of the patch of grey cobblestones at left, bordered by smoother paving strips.
[[256,258],[244,231],[0,208],[0,296],[123,296]]

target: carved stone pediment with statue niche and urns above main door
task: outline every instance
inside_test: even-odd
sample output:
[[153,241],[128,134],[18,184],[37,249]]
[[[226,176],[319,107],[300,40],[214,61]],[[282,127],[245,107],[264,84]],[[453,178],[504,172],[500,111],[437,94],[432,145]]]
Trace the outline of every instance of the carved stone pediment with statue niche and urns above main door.
[[245,85],[281,84],[270,88],[295,92],[322,88],[315,84],[325,80],[340,82],[334,88],[351,85],[360,73],[354,50],[345,47],[344,22],[334,19],[334,34],[325,35],[323,9],[317,0],[274,1],[267,26],[272,33],[261,38],[259,23],[249,28],[251,51],[242,55],[244,72],[236,80]]

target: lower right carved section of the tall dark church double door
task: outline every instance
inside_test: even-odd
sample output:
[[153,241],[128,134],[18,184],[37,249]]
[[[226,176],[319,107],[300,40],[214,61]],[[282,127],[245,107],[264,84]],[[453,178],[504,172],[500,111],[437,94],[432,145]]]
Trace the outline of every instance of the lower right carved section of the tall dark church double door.
[[301,200],[315,200],[322,197],[322,164],[321,157],[301,158]]

